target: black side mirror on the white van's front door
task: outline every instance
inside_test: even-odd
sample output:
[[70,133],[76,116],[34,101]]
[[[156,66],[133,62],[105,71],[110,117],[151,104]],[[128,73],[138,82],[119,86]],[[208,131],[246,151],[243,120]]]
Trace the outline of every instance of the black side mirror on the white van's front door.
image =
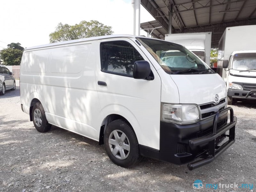
[[151,69],[148,61],[135,61],[133,66],[134,79],[146,79],[150,75]]

